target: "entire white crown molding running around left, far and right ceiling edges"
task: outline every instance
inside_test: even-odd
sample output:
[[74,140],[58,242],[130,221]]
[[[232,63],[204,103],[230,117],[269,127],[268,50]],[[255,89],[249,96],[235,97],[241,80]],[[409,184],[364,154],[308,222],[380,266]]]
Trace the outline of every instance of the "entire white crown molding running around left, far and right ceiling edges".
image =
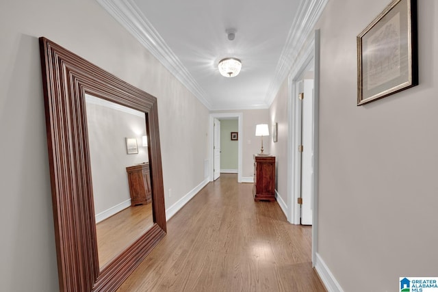
[[[209,110],[229,109],[228,106],[213,106],[205,97],[206,94],[201,86],[190,75],[175,53],[168,47],[166,42],[153,25],[148,21],[136,3],[132,0],[96,0],[116,21],[127,29],[154,57],[161,62],[172,75],[174,75],[198,100]],[[298,54],[305,46],[316,21],[320,18],[326,3],[329,0],[301,0],[296,18],[276,65],[275,77],[266,93],[265,105],[241,105],[238,109],[269,108],[287,78],[292,66],[296,62]],[[233,109],[236,109],[233,106]]]

